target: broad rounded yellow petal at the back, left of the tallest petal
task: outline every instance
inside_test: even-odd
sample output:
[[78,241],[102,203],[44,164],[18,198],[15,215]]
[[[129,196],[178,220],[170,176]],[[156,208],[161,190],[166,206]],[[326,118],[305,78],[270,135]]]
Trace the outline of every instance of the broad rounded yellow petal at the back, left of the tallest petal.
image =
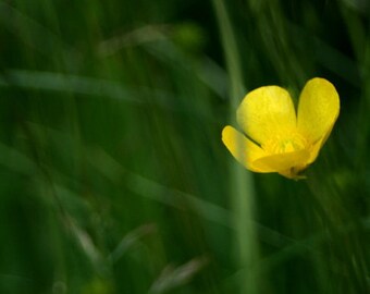
[[243,131],[260,145],[271,136],[285,136],[296,128],[292,98],[278,86],[260,87],[247,94],[236,114]]

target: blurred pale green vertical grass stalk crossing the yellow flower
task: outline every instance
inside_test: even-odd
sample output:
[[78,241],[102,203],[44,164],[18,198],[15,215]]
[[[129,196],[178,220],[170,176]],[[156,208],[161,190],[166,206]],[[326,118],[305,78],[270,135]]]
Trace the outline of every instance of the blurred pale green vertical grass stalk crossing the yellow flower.
[[[221,32],[221,40],[225,54],[225,62],[230,75],[230,103],[231,118],[235,117],[235,109],[245,95],[240,60],[236,38],[227,15],[225,3],[213,0],[213,7]],[[256,261],[258,260],[258,246],[254,220],[255,191],[251,174],[232,163],[231,167],[231,197],[236,228],[235,250],[236,262],[242,269],[237,281],[239,293],[259,293],[259,282],[256,279]]]

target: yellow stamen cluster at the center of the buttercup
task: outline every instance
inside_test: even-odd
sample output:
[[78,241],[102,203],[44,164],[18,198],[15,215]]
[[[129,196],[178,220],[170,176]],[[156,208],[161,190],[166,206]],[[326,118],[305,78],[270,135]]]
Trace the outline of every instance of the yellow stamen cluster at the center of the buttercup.
[[287,136],[276,136],[262,145],[262,148],[271,155],[287,154],[308,148],[307,140],[297,133]]

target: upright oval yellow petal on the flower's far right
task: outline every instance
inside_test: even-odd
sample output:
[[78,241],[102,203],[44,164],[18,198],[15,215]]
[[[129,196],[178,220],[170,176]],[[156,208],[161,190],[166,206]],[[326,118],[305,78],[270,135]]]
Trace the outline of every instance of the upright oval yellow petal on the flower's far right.
[[299,132],[312,143],[326,138],[338,114],[340,96],[335,87],[320,77],[308,81],[299,97]]

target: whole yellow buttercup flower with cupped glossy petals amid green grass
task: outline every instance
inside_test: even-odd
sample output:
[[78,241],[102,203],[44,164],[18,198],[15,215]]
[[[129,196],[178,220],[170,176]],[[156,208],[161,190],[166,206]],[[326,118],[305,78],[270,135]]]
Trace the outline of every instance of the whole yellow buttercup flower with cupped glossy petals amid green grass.
[[244,134],[227,125],[222,142],[250,171],[299,179],[299,173],[318,157],[338,113],[338,94],[324,78],[307,82],[297,115],[287,90],[260,87],[250,91],[237,109]]

